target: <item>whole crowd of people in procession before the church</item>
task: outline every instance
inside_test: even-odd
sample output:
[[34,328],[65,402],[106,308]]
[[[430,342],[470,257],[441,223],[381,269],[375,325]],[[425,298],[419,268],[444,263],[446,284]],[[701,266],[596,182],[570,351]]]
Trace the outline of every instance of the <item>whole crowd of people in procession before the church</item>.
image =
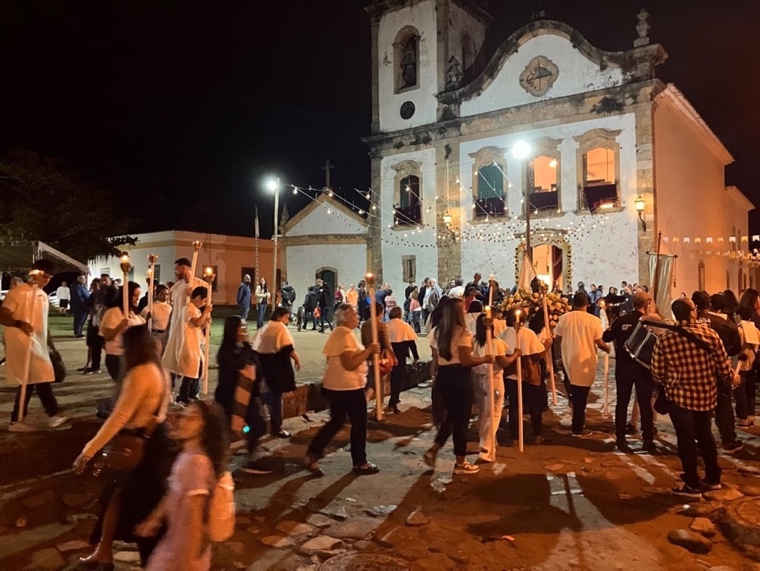
[[[7,345],[6,377],[20,385],[11,431],[36,429],[24,422],[34,392],[52,428],[68,421],[52,389],[56,371],[47,328],[49,302],[43,288],[54,273],[50,262],[36,262],[29,279],[16,283],[0,308]],[[148,569],[208,569],[204,498],[214,494],[227,470],[230,439],[245,440],[249,458],[243,471],[267,474],[272,468],[260,446],[267,416],[272,436],[290,437],[283,428],[282,399],[295,390],[295,372],[301,367],[288,327],[293,319],[293,289],[283,284],[277,292],[280,304],[264,323],[274,292],[263,279],[251,292],[250,278],[244,279],[241,289],[246,285],[248,293],[239,291],[240,314],[224,323],[212,404],[198,398],[204,371],[202,346],[212,312],[207,285],[192,275],[185,258],[176,260],[175,278],[174,283],[156,285],[143,296],[137,283],[117,288],[109,276],[101,276],[91,282],[86,296],[77,294],[88,318],[84,372],[100,370],[105,350],[105,366],[115,382],[115,397],[99,411],[105,422],[74,462],[74,469],[81,472],[95,460],[96,470],[105,466],[107,474],[102,511],[92,536],[96,548],[82,560],[81,568],[112,569],[113,541],[123,539],[138,543]],[[77,279],[78,285],[84,283],[84,276]],[[531,287],[541,291],[537,280]],[[401,412],[407,363],[410,358],[415,363],[420,360],[417,342],[423,334],[432,352],[432,409],[437,427],[434,443],[423,458],[434,467],[451,438],[455,474],[474,474],[482,464],[495,461],[505,410],[513,441],[522,446],[523,415],[527,414],[532,429],[529,442],[543,442],[552,368],[562,376],[572,410],[570,433],[588,436],[586,409],[590,389],[598,380],[598,352],[610,353],[613,346],[616,445],[622,452],[632,452],[628,436],[635,428],[628,407],[634,391],[646,452],[658,453],[656,414],[669,414],[683,466],[683,481],[673,493],[696,499],[704,490],[720,488],[713,419],[723,452],[729,454],[742,448],[736,427],[754,424],[755,354],[760,345],[756,290],[744,291],[740,299],[730,291],[682,296],[672,303],[674,319],[668,322],[657,315],[645,286],[624,282],[619,291],[604,295],[603,286],[592,285],[587,291],[579,283],[576,291],[564,294],[572,310],[559,317],[553,330],[540,312],[529,315],[518,307],[499,312],[506,292],[493,281],[484,282],[480,274],[466,285],[461,279],[452,280],[446,288],[433,278],[426,278],[419,287],[410,283],[401,303],[388,284],[370,294],[363,281],[348,289],[339,284],[333,293],[328,284],[317,280],[296,312],[299,331],[307,320],[312,329],[319,323],[320,331],[331,330],[322,351],[326,363],[322,390],[329,401],[330,419],[303,459],[304,468],[314,475],[321,475],[319,460],[346,420],[351,425],[353,472],[379,472],[368,459],[366,445],[368,403],[377,397],[375,371],[390,379],[385,412]],[[70,296],[75,328],[77,295]],[[259,306],[259,328],[251,340],[245,317],[254,299]],[[648,356],[630,346],[642,326],[652,340]],[[172,401],[184,411],[169,426],[167,411]],[[473,463],[467,458],[467,439],[474,413],[479,452]],[[136,463],[118,468],[112,464],[119,457],[118,441],[125,437],[142,440],[141,454]],[[170,438],[181,444],[176,459],[170,452]],[[98,456],[109,447],[108,454]],[[697,471],[700,454],[704,477]]]

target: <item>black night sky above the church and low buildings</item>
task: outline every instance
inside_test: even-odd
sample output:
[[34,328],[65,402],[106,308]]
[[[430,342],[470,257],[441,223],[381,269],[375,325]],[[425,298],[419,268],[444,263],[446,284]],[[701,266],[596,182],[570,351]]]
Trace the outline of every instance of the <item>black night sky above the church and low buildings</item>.
[[[0,146],[63,159],[111,189],[134,231],[271,234],[269,173],[369,185],[370,33],[359,0],[0,2]],[[576,27],[606,50],[632,47],[636,14],[669,53],[675,83],[736,159],[760,204],[760,2],[492,0],[490,50],[530,21]],[[290,213],[307,199],[282,195]],[[760,220],[760,217],[758,217]],[[757,230],[755,230],[757,231]]]

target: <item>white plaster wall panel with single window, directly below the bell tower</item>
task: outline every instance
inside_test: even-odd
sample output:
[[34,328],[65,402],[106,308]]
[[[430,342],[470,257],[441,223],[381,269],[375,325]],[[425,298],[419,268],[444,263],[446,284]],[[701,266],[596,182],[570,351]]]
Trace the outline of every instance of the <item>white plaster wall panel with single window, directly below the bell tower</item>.
[[[415,228],[389,228],[393,225],[393,198],[395,191],[395,166],[403,161],[415,161],[422,164],[420,181],[422,198],[422,225]],[[424,277],[436,277],[438,273],[438,254],[436,250],[436,168],[435,149],[424,149],[411,153],[393,155],[382,160],[380,165],[382,225],[383,280],[391,284],[394,290],[403,289],[402,257],[415,256],[417,282]],[[445,168],[445,167],[442,167]],[[451,176],[456,177],[454,170]],[[430,210],[428,210],[428,208]]]

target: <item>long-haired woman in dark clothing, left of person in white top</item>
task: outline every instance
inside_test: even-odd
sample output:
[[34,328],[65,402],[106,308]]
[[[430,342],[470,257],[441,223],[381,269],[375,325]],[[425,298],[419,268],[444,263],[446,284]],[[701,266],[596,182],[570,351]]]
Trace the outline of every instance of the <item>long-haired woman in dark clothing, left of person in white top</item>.
[[[219,353],[216,356],[219,364],[219,382],[214,391],[214,399],[227,415],[227,426],[230,426],[233,414],[245,418],[248,425],[247,448],[250,462],[243,471],[255,474],[269,473],[256,465],[259,440],[266,433],[266,421],[259,389],[259,363],[256,353],[248,341],[248,327],[238,315],[230,315],[224,321],[224,335]],[[253,368],[253,379],[246,378],[246,370]],[[250,374],[250,373],[249,373]],[[248,402],[236,402],[235,392],[241,384],[250,386]],[[243,408],[244,407],[244,408]],[[240,408],[240,410],[237,410]]]

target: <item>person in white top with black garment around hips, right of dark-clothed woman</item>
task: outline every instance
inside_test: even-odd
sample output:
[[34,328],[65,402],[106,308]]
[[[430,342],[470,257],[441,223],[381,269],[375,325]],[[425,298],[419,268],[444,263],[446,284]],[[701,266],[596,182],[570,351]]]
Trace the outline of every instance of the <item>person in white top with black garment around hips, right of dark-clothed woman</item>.
[[301,359],[288,331],[289,317],[287,309],[276,308],[269,322],[253,339],[253,350],[261,363],[261,376],[267,386],[264,400],[269,406],[270,434],[276,438],[290,438],[290,432],[282,428],[282,395],[296,390],[293,367],[296,371],[301,370]]

